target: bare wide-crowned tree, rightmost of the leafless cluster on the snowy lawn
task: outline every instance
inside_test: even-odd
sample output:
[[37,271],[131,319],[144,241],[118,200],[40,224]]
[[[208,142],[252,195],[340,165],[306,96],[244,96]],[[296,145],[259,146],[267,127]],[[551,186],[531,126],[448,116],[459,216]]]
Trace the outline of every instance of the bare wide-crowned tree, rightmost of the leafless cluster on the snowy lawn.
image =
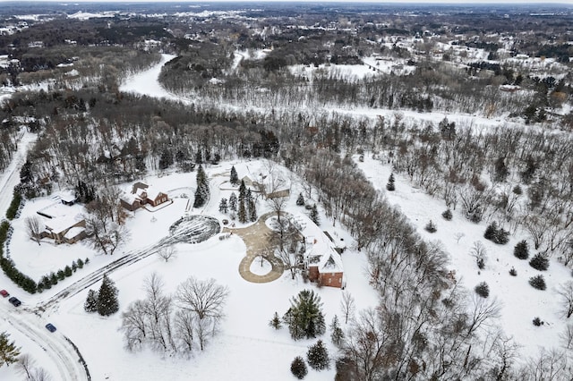
[[182,308],[195,312],[200,319],[218,319],[223,317],[223,306],[228,293],[227,286],[216,284],[215,279],[200,281],[191,276],[179,284],[175,299]]

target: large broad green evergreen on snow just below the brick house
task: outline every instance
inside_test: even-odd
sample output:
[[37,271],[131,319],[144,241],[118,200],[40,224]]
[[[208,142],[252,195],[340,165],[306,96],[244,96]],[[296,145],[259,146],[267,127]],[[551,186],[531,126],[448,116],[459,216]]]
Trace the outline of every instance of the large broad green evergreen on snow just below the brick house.
[[324,334],[326,325],[321,307],[321,297],[312,290],[303,290],[291,300],[291,307],[283,319],[293,339],[310,339]]

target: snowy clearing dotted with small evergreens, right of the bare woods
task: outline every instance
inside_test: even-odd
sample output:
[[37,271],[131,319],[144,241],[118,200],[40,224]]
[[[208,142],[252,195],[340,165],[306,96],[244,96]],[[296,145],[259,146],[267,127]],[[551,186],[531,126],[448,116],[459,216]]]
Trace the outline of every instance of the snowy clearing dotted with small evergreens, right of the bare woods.
[[[458,283],[469,292],[474,292],[475,285],[481,282],[490,286],[489,298],[497,298],[502,306],[499,326],[520,344],[522,360],[538,354],[541,347],[549,350],[560,346],[560,334],[566,322],[560,316],[560,299],[556,295],[556,288],[571,280],[567,267],[552,259],[548,271],[537,271],[529,266],[528,260],[520,260],[513,255],[514,246],[518,241],[527,239],[526,234],[517,232],[507,244],[495,244],[483,238],[487,223],[474,224],[459,210],[453,210],[452,220],[446,221],[441,217],[446,210],[443,200],[434,199],[423,190],[413,188],[399,174],[395,174],[396,190],[385,190],[391,173],[390,165],[384,165],[369,155],[364,155],[362,163],[356,162],[374,187],[385,193],[389,203],[408,217],[425,240],[440,242],[441,247],[449,253],[449,268],[456,272]],[[430,220],[436,224],[436,233],[428,233],[424,229]],[[463,234],[459,240],[458,234]],[[488,259],[481,271],[475,264],[475,258],[470,255],[475,241],[481,241],[487,250]],[[515,267],[517,276],[509,275],[511,267]],[[545,291],[536,290],[528,284],[531,276],[539,274],[545,277]],[[543,326],[532,324],[536,317],[544,321]]]

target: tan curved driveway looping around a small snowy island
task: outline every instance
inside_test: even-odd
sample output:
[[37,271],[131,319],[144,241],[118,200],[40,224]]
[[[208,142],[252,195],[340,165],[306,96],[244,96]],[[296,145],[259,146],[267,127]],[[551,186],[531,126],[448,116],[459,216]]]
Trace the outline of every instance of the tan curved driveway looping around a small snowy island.
[[[265,224],[265,221],[269,216],[273,215],[274,213],[272,212],[264,214],[256,223],[250,226],[226,227],[223,229],[223,232],[236,234],[243,239],[247,247],[247,255],[239,264],[239,274],[245,281],[252,282],[253,284],[266,284],[276,281],[285,271],[282,261],[274,255],[269,254],[269,248],[271,248],[269,237],[272,231],[267,224]],[[256,275],[251,272],[252,261],[261,254],[272,266],[270,272],[266,275]]]

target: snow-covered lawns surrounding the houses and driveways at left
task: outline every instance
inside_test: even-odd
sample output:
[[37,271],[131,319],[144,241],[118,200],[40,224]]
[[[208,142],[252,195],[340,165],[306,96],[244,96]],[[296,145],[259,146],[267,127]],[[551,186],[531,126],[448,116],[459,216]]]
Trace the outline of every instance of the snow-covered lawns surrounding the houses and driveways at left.
[[[246,161],[235,163],[223,163],[221,165],[209,165],[206,168],[210,177],[210,203],[207,207],[190,210],[190,214],[199,213],[204,216],[215,216],[219,220],[228,218],[218,212],[218,202],[221,197],[230,195],[233,190],[229,186],[228,176],[231,166],[239,177],[244,175],[258,174],[264,171],[262,161]],[[278,167],[280,168],[280,167]],[[191,196],[194,190],[195,174],[171,174],[161,177],[145,179],[154,187],[165,190],[174,203],[158,209],[155,212],[138,210],[128,220],[127,226],[131,232],[131,241],[122,251],[128,252],[141,250],[159,241],[169,233],[169,226],[186,214],[188,201],[186,196]],[[130,184],[125,184],[128,189]],[[292,190],[298,195],[300,190]],[[286,210],[293,213],[307,213],[304,207],[295,205],[296,197],[289,200]],[[37,199],[29,202],[22,209],[21,217],[13,221],[14,235],[10,242],[12,257],[18,267],[24,273],[38,276],[44,274],[50,268],[58,269],[70,265],[76,258],[90,258],[90,264],[83,269],[78,269],[72,277],[65,279],[51,290],[37,295],[27,295],[13,285],[5,288],[18,295],[23,306],[31,308],[36,303],[47,300],[64,286],[72,284],[82,276],[90,274],[94,269],[102,267],[112,260],[119,258],[123,253],[114,256],[99,255],[85,241],[74,245],[62,244],[55,246],[48,241],[43,241],[40,246],[30,241],[22,232],[22,221],[25,216],[33,215],[38,207],[44,207],[53,203],[53,197]],[[269,205],[259,199],[259,215],[269,211]],[[323,228],[328,230],[333,237],[342,238],[346,242],[352,242],[351,237],[338,227],[331,227],[331,223],[325,216],[321,216],[324,222]],[[235,221],[237,226],[240,226]],[[295,356],[305,356],[306,351],[316,340],[293,341],[286,328],[275,331],[269,326],[269,320],[275,311],[283,315],[289,307],[289,299],[300,290],[313,288],[319,292],[324,303],[323,309],[326,321],[329,324],[335,314],[340,315],[341,290],[336,288],[322,287],[317,289],[313,284],[304,284],[302,279],[291,280],[286,272],[278,281],[269,284],[251,284],[245,281],[238,272],[239,262],[244,258],[246,249],[244,242],[236,235],[227,240],[218,240],[217,237],[197,244],[178,243],[175,245],[176,255],[167,263],[163,258],[156,255],[141,259],[133,265],[122,267],[109,276],[115,281],[119,290],[121,310],[127,308],[130,302],[144,298],[142,289],[143,279],[153,272],[157,272],[166,284],[167,292],[174,292],[177,284],[181,284],[189,276],[199,279],[215,278],[219,284],[227,285],[230,290],[227,307],[227,317],[222,325],[221,333],[215,337],[204,352],[195,352],[192,359],[165,358],[160,353],[141,351],[132,353],[124,349],[122,334],[118,332],[121,326],[121,313],[110,318],[101,318],[98,315],[90,315],[84,312],[83,302],[88,290],[64,299],[56,308],[47,309],[41,314],[41,318],[34,318],[35,324],[44,329],[47,321],[52,322],[58,330],[56,337],[61,335],[69,337],[75,343],[83,358],[87,361],[92,379],[138,379],[157,380],[167,377],[173,380],[188,379],[276,379],[291,380],[290,363]],[[363,254],[353,250],[347,250],[343,256],[346,276],[346,291],[350,292],[356,300],[359,309],[374,306],[376,293],[367,282],[365,276],[365,258]],[[260,261],[255,261],[258,272],[265,272]],[[253,268],[254,270],[254,268]],[[261,274],[262,274],[261,273]],[[2,278],[2,284],[9,284]],[[97,289],[99,284],[92,288]],[[4,305],[5,304],[5,305]],[[7,303],[3,303],[2,309],[13,309]],[[19,312],[23,312],[19,310]],[[4,324],[4,329],[12,333],[13,330]],[[90,329],[86,329],[89,327]],[[39,328],[38,328],[39,329]],[[45,330],[45,329],[44,329]],[[45,330],[46,331],[46,330]],[[14,331],[15,332],[15,331]],[[46,334],[47,333],[46,331]],[[38,343],[29,343],[25,337],[17,332],[13,335],[23,352],[29,352],[32,357],[38,358],[38,363],[45,366],[56,377],[58,370],[55,360],[42,356],[41,347]],[[329,334],[322,338],[329,343]],[[334,353],[334,347],[329,346],[330,352]],[[221,367],[221,361],[225,366]],[[310,371],[309,379],[327,380],[334,377],[334,363],[329,370],[317,372]],[[56,377],[57,378],[57,377]],[[19,377],[13,367],[0,368],[0,379],[16,380]]]

